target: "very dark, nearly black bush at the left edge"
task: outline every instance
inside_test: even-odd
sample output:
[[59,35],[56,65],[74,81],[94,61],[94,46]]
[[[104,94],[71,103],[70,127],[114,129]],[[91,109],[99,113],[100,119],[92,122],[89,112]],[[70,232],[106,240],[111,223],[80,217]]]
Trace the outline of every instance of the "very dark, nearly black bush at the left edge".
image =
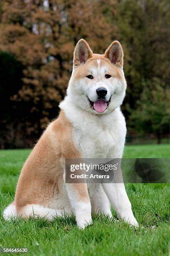
[[22,115],[11,97],[21,89],[23,82],[23,64],[7,52],[0,53],[0,145],[1,148],[13,148],[17,145]]

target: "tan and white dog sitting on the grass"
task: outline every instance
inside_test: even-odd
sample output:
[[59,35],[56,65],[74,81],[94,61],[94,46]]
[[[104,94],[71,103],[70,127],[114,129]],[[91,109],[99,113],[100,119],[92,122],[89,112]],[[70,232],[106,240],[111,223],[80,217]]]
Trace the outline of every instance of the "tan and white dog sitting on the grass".
[[125,97],[123,51],[113,41],[105,54],[93,54],[84,39],[75,47],[72,75],[60,114],[50,123],[18,180],[15,201],[5,219],[54,216],[74,212],[79,228],[92,223],[92,214],[120,219],[138,227],[122,183],[66,183],[65,159],[122,158],[126,124],[120,110]]

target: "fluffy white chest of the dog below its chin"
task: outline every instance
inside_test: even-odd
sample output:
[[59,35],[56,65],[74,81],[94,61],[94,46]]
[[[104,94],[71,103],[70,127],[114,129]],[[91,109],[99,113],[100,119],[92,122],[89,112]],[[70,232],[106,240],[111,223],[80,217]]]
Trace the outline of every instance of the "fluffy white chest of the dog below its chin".
[[117,151],[123,150],[125,133],[122,114],[120,119],[84,118],[74,126],[74,141],[83,158],[117,157]]

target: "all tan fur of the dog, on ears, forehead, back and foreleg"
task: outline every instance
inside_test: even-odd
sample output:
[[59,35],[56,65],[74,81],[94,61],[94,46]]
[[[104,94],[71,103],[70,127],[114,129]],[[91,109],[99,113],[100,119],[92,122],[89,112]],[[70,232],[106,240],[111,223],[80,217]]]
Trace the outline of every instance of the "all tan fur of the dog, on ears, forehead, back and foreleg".
[[[87,42],[81,39],[74,53],[75,79],[87,76],[90,68],[97,67],[96,60],[100,59],[101,67],[104,65],[110,67],[108,74],[122,80],[122,71],[117,68],[119,65],[117,63],[113,65],[109,57],[110,53],[117,51],[122,64],[123,53],[119,46],[120,44],[115,41],[105,54],[93,54]],[[26,205],[37,204],[49,207],[53,197],[56,198],[60,194],[64,184],[61,162],[65,159],[81,157],[73,143],[72,129],[72,123],[61,111],[59,117],[50,123],[35,145],[23,166],[15,193],[15,205],[19,215],[22,215]],[[77,192],[79,200],[89,201],[86,184],[75,183],[71,186]]]

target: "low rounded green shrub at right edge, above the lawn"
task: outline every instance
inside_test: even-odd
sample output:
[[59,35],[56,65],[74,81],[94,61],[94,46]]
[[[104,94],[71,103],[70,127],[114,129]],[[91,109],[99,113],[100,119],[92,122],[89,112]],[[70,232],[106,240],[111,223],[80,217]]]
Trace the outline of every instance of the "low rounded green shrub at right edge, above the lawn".
[[160,143],[163,133],[170,133],[170,88],[159,79],[144,86],[137,109],[130,116],[131,126],[141,135],[155,134]]

